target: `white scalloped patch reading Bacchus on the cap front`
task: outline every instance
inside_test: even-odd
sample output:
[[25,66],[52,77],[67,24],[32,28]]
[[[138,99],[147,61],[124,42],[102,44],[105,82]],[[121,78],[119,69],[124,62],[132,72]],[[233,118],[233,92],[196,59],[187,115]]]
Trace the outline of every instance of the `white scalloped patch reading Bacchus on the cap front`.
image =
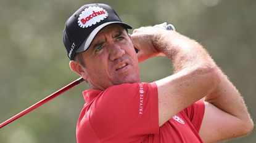
[[97,22],[107,18],[107,10],[101,7],[88,7],[78,17],[78,25],[81,28],[88,28],[89,26],[95,25]]

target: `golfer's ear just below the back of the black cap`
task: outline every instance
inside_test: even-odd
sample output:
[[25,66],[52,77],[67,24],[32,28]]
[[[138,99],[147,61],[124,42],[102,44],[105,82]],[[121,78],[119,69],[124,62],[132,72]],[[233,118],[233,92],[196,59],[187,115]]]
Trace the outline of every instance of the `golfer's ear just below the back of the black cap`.
[[77,61],[70,61],[69,66],[73,72],[76,72],[76,74],[83,77],[83,79],[87,79],[86,69],[80,63],[78,63]]

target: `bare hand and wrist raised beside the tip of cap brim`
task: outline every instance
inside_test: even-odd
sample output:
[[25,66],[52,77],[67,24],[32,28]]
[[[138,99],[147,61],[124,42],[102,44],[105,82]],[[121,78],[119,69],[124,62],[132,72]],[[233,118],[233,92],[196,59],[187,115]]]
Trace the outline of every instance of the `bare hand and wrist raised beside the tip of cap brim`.
[[157,55],[164,55],[163,41],[165,36],[169,33],[164,29],[154,27],[141,27],[134,29],[131,34],[134,48],[137,48],[139,62],[147,60]]

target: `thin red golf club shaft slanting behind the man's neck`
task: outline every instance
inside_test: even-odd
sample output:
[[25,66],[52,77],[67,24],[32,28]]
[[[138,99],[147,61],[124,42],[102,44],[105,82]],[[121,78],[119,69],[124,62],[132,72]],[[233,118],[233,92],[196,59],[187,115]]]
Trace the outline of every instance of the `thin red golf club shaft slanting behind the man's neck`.
[[47,96],[46,98],[42,99],[41,101],[36,102],[35,104],[33,104],[33,106],[28,107],[27,109],[23,110],[19,114],[14,115],[14,117],[11,117],[8,120],[6,120],[5,122],[1,123],[0,128],[8,125],[9,123],[13,122],[17,118],[20,118],[25,114],[28,114],[31,110],[38,108],[39,106],[45,104],[46,102],[51,101],[51,99],[56,98],[57,96],[61,95],[65,91],[69,90],[70,88],[75,87],[76,85],[78,85],[79,83],[81,83],[83,81],[84,81],[84,79],[82,77],[80,77],[79,79],[76,79],[75,81],[73,81],[72,83],[69,83],[68,85],[66,85],[65,87],[56,91],[55,93],[52,93],[51,95]]

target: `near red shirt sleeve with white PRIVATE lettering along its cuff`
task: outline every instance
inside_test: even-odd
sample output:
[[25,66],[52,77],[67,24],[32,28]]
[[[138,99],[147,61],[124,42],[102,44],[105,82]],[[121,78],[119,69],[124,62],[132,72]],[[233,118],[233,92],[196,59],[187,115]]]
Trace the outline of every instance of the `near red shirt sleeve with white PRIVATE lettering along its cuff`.
[[107,88],[91,105],[89,120],[97,136],[106,142],[134,142],[158,133],[157,86],[124,83]]

